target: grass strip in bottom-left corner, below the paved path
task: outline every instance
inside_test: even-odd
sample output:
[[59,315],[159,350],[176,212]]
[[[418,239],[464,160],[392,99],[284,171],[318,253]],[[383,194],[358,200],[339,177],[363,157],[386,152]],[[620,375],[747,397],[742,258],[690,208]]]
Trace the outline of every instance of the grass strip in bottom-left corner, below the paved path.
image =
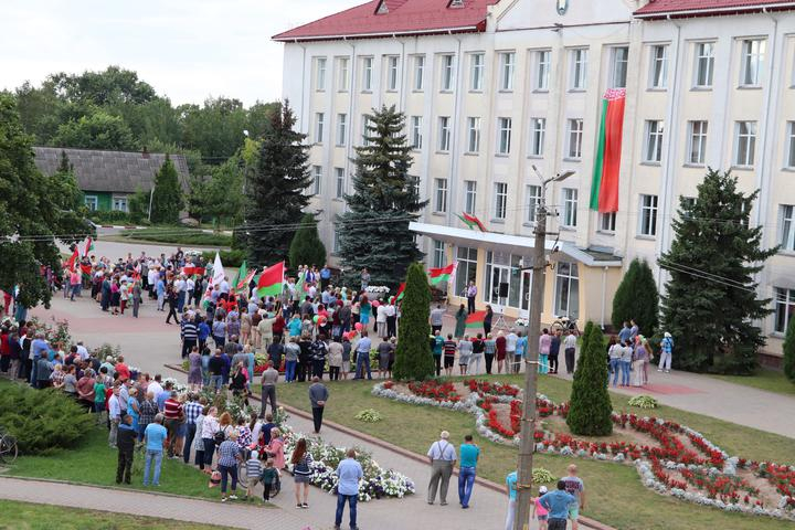
[[0,500],[0,528],[18,530],[213,530],[229,527]]

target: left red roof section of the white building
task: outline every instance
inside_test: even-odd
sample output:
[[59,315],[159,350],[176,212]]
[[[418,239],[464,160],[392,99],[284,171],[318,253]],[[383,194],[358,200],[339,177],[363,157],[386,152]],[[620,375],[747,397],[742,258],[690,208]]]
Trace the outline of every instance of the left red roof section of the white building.
[[[499,0],[372,0],[274,35],[276,41],[363,39],[400,34],[484,31],[486,11]],[[381,4],[384,3],[385,7]]]

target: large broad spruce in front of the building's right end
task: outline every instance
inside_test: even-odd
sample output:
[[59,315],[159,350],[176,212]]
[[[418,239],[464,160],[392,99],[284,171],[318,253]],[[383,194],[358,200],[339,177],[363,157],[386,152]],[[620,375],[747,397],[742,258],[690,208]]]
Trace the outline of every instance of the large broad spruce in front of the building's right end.
[[755,275],[777,247],[762,248],[762,226],[749,216],[749,195],[729,172],[709,170],[695,203],[680,199],[676,239],[659,265],[670,279],[662,296],[662,329],[674,335],[674,365],[697,372],[752,373],[765,343],[754,324],[771,312],[757,297]]

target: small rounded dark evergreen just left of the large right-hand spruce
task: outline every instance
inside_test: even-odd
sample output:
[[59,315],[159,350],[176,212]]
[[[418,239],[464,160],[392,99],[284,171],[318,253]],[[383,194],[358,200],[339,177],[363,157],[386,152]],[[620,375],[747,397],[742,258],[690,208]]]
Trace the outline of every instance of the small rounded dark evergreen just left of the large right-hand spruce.
[[645,259],[635,258],[613,296],[613,326],[621,328],[632,319],[643,335],[651,337],[659,324],[658,316],[659,294],[651,267]]

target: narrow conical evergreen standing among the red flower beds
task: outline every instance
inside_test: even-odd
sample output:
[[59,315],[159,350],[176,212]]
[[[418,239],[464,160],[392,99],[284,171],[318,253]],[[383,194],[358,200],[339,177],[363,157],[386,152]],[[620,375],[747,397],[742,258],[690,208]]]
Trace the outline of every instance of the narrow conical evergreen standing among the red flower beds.
[[572,434],[606,436],[613,432],[613,404],[607,392],[607,379],[604,336],[598,326],[589,321],[574,371],[571,407],[566,416]]

